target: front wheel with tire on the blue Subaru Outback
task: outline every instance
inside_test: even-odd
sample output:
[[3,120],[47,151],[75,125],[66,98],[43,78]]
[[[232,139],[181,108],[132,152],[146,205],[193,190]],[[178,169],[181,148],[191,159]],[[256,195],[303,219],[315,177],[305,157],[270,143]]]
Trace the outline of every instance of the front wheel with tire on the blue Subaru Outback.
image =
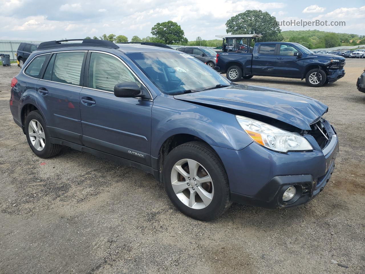
[[219,157],[202,142],[174,148],[164,161],[164,186],[172,203],[185,215],[210,221],[231,205],[228,177]]

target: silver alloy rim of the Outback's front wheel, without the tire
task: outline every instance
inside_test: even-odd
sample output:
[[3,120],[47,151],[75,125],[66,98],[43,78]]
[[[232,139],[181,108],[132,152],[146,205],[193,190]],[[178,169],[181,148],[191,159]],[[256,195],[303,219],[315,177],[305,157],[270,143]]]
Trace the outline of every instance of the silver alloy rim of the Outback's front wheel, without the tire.
[[206,208],[213,199],[214,186],[207,170],[192,159],[174,164],[171,184],[178,199],[192,209]]

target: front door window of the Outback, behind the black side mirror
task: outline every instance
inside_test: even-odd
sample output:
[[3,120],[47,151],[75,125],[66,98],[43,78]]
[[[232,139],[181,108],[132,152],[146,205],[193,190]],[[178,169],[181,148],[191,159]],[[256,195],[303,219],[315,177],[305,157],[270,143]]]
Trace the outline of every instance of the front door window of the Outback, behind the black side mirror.
[[125,82],[135,82],[141,87],[141,83],[118,58],[104,53],[91,53],[89,88],[114,92],[116,84]]

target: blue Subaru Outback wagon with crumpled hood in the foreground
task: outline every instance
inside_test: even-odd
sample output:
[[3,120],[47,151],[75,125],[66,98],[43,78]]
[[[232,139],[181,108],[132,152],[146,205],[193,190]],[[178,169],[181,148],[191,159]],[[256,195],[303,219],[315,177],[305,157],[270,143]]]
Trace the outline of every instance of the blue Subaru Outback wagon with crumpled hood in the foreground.
[[308,202],[338,153],[326,105],[232,83],[188,54],[154,46],[41,43],[12,79],[10,109],[37,156],[66,145],[141,168],[198,220],[232,202]]

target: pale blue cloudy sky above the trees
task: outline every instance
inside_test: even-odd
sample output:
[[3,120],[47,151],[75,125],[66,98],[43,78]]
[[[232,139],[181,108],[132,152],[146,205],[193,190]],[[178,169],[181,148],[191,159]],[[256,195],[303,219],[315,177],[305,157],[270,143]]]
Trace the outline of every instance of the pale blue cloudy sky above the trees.
[[46,41],[114,33],[150,36],[155,23],[173,20],[189,40],[225,34],[227,19],[261,9],[277,20],[345,21],[346,26],[281,27],[365,35],[365,2],[262,0],[0,0],[0,39]]

